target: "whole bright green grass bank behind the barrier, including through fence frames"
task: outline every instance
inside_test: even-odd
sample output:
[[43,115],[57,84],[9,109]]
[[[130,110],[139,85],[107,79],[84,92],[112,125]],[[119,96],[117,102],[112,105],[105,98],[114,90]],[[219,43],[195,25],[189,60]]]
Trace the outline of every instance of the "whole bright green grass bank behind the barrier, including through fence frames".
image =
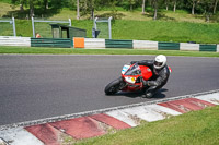
[[[3,27],[3,24],[0,24]],[[10,27],[11,26],[11,27]],[[89,20],[72,21],[72,26],[87,29],[87,37],[92,37],[93,22]],[[11,28],[11,29],[9,29]],[[9,32],[8,32],[9,31]],[[36,23],[35,32],[43,37],[51,37],[50,25]],[[0,35],[12,35],[12,25],[0,31]],[[16,20],[16,34],[23,37],[33,37],[31,21]],[[113,39],[138,39],[155,41],[197,44],[219,44],[219,24],[201,24],[188,22],[166,21],[125,21],[116,20],[112,23]]]

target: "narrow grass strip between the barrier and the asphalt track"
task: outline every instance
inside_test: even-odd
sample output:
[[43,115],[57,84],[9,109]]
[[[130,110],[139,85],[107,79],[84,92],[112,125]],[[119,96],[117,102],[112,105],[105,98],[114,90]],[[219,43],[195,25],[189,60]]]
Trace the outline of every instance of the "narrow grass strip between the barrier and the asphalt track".
[[187,57],[219,57],[218,52],[177,51],[177,50],[136,50],[136,49],[73,49],[43,47],[4,47],[0,53],[48,53],[48,55],[166,55]]

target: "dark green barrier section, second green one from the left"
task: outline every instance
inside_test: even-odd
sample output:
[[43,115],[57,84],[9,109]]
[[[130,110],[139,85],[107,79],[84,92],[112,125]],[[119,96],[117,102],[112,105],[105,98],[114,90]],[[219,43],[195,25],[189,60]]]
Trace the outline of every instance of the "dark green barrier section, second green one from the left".
[[105,46],[106,48],[134,48],[132,40],[105,39]]

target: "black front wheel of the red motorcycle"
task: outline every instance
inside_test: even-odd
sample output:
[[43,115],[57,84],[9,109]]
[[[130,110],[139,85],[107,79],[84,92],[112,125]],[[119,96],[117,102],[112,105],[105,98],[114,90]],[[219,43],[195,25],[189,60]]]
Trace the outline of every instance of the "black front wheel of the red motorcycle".
[[114,80],[105,87],[106,95],[114,95],[119,90],[122,78]]

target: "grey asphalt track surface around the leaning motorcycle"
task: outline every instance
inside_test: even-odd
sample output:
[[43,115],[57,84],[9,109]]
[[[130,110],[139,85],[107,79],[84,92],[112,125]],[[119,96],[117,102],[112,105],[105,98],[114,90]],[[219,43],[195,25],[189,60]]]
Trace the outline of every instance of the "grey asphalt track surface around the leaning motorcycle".
[[104,87],[125,63],[154,56],[0,56],[0,125],[171,98],[219,88],[219,58],[168,57],[168,84],[154,98]]

